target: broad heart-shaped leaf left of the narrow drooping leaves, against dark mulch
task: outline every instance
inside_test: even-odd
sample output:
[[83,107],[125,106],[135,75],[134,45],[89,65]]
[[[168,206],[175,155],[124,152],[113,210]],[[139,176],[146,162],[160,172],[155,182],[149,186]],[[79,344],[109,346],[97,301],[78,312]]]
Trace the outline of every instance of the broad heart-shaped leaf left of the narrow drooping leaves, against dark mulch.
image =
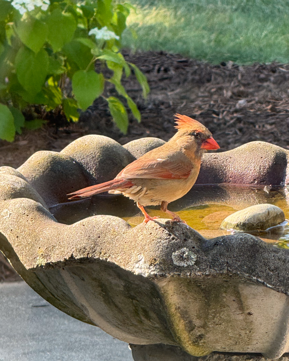
[[98,98],[104,89],[104,77],[94,70],[78,70],[72,77],[72,91],[79,108],[85,110]]

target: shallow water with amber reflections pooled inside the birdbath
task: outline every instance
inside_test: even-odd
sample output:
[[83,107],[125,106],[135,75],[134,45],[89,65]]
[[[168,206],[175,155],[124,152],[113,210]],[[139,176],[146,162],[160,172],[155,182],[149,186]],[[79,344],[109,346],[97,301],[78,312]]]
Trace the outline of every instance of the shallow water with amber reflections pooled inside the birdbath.
[[[289,218],[289,191],[287,188],[235,185],[195,185],[184,197],[169,204],[187,225],[205,238],[231,234],[220,229],[221,222],[230,214],[256,204],[269,203],[281,208]],[[146,207],[150,216],[168,218],[159,207]],[[100,194],[91,198],[69,201],[50,208],[61,223],[72,224],[97,214],[121,217],[132,227],[143,221],[135,203],[122,195]],[[253,232],[265,242],[289,249],[289,227],[280,225],[264,232]]]

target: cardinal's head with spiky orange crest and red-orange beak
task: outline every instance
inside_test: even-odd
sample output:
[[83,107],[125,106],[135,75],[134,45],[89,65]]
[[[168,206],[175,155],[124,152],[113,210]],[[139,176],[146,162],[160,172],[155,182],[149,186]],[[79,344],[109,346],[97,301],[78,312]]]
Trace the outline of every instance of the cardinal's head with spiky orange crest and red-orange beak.
[[178,130],[175,137],[185,149],[202,153],[205,150],[220,148],[210,130],[203,124],[185,115],[175,114],[175,117],[175,128]]

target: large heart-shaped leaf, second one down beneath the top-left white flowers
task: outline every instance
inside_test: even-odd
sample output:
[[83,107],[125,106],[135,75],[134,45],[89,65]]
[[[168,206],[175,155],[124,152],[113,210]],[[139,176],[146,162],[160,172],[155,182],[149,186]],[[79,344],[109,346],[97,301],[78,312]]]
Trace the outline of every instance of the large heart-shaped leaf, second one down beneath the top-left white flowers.
[[40,92],[48,72],[48,54],[44,49],[35,54],[28,48],[20,48],[15,58],[17,78],[23,88],[35,95]]

